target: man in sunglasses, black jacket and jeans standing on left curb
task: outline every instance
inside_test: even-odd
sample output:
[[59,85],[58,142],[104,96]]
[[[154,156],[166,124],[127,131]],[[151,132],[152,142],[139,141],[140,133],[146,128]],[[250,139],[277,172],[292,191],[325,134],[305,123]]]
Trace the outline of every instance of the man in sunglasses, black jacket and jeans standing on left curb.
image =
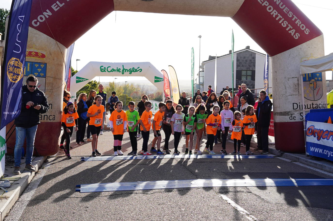
[[32,172],[36,171],[35,167],[31,165],[31,161],[34,152],[37,125],[40,124],[39,115],[44,114],[49,110],[47,98],[44,92],[39,90],[37,84],[38,79],[35,76],[30,76],[27,78],[26,84],[22,86],[21,113],[14,122],[16,129],[14,174],[21,174],[21,154],[25,139],[27,139],[27,152],[24,169]]

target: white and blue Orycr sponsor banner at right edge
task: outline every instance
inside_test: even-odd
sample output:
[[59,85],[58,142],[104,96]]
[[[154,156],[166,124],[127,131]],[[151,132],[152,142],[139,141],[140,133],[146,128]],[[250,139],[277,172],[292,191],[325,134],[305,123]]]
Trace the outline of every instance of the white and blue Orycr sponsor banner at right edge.
[[333,161],[333,124],[306,122],[306,153]]

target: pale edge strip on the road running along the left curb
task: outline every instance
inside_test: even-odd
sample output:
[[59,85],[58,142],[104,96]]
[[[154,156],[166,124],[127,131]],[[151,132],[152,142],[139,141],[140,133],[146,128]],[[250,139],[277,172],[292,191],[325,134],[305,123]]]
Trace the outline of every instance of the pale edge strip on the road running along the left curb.
[[17,199],[14,206],[11,208],[7,216],[3,221],[18,221],[21,215],[34,195],[40,181],[44,177],[47,169],[49,168],[52,161],[57,158],[50,158],[49,163],[45,165],[43,169],[38,170],[35,176],[32,178],[31,182],[28,184],[26,189],[23,191],[22,195]]

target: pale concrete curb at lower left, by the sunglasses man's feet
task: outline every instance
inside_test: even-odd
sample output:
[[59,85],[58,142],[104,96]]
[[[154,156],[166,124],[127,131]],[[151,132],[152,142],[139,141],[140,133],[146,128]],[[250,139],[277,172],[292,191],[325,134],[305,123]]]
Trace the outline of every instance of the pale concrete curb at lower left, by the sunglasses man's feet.
[[[44,164],[44,161],[47,157],[35,157],[32,160],[32,165],[35,166],[36,172],[41,168],[41,166]],[[22,164],[24,165],[24,164]],[[23,166],[21,168],[24,168]],[[10,172],[9,172],[9,171]],[[12,184],[9,188],[7,188],[8,192],[5,192],[1,195],[3,197],[0,200],[0,215],[1,215],[1,221],[5,218],[7,213],[10,211],[10,209],[13,207],[13,205],[16,203],[17,199],[20,197],[24,189],[27,187],[27,185],[30,183],[32,178],[35,176],[36,172],[30,172],[28,170],[24,170],[21,172],[20,175],[13,174],[14,168],[10,168],[7,170],[8,177],[18,177],[21,178],[18,181],[14,181],[18,184]],[[22,169],[21,169],[22,170]],[[1,190],[2,191],[2,190]]]

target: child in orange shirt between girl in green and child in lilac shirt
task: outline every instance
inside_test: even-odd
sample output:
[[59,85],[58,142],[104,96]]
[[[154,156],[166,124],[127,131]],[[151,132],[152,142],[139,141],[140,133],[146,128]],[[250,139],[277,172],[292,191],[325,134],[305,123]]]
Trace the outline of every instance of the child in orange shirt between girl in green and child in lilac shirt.
[[[214,136],[216,135],[217,130],[220,130],[221,128],[221,116],[218,115],[218,111],[220,110],[220,107],[217,105],[213,106],[213,113],[208,116],[206,119],[206,133],[207,133],[207,144],[206,148],[203,150],[203,152],[206,152],[208,154],[215,154],[213,152],[213,143],[214,143]],[[208,147],[210,151],[208,151]]]

